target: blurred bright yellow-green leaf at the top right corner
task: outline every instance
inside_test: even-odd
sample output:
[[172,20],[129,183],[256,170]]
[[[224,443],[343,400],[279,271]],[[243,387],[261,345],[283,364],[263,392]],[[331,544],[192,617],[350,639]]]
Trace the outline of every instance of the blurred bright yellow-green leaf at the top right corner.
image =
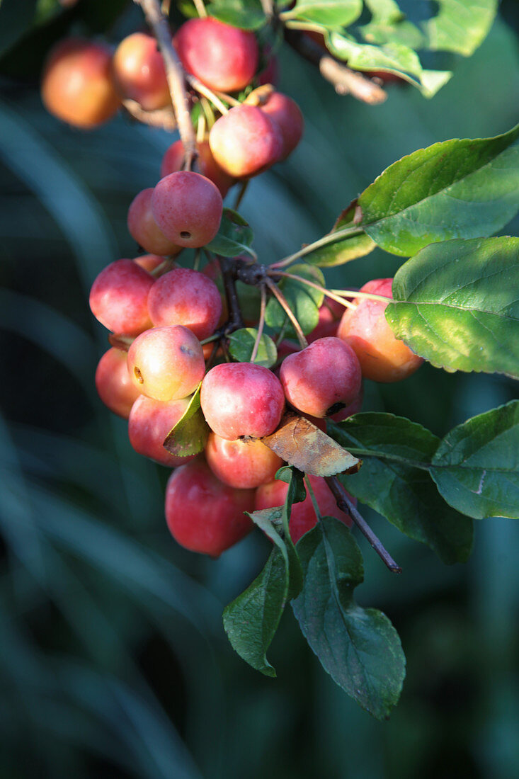
[[470,57],[485,39],[497,12],[497,0],[437,0],[440,10],[424,23],[429,49]]

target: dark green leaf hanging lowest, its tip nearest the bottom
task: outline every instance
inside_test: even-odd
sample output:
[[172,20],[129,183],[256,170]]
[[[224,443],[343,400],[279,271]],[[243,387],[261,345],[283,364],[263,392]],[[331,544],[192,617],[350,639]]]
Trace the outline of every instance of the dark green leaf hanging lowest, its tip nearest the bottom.
[[387,717],[401,693],[405,657],[387,616],[355,603],[364,578],[355,539],[323,517],[297,548],[305,583],[293,608],[302,633],[334,682],[374,717]]

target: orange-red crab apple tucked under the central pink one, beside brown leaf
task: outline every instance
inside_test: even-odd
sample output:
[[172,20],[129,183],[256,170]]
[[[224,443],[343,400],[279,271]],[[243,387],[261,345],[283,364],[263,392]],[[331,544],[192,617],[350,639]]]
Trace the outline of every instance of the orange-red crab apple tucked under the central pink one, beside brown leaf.
[[214,475],[236,488],[254,488],[272,481],[283,460],[261,441],[227,441],[210,432],[206,460]]

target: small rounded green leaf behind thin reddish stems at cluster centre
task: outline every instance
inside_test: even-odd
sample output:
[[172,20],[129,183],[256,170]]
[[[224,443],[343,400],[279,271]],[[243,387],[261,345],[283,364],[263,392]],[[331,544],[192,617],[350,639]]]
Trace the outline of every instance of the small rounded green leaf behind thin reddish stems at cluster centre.
[[[302,264],[293,265],[291,266],[290,273],[295,273],[296,276],[308,279],[313,284],[326,285],[323,272],[319,268]],[[288,306],[294,312],[303,333],[311,333],[319,322],[319,307],[324,300],[323,292],[307,287],[306,284],[294,279],[283,278],[277,286],[287,299]],[[274,297],[270,298],[265,309],[265,322],[267,325],[272,327],[273,330],[281,330],[287,321],[288,317],[281,305]],[[286,328],[286,335],[288,338],[294,335],[294,330],[290,324]]]

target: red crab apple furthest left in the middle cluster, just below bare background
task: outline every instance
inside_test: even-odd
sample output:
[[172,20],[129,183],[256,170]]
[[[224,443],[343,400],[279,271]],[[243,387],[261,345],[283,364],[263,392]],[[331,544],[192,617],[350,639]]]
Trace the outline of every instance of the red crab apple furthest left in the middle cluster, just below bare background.
[[151,327],[148,293],[154,277],[132,259],[116,259],[94,280],[90,309],[112,333],[138,336]]

